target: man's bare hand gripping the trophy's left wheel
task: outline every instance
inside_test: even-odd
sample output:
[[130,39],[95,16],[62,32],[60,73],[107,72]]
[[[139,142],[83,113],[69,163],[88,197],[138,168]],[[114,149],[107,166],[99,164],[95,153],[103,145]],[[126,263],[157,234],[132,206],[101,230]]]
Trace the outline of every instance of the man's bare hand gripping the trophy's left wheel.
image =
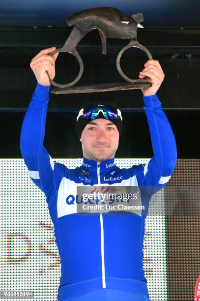
[[[56,47],[51,47],[41,50],[30,62],[30,68],[32,69],[37,82],[42,86],[50,86],[49,77],[54,79],[55,77],[55,61],[59,53],[53,56],[48,56],[52,51],[56,50]],[[49,77],[47,75],[49,74]]]

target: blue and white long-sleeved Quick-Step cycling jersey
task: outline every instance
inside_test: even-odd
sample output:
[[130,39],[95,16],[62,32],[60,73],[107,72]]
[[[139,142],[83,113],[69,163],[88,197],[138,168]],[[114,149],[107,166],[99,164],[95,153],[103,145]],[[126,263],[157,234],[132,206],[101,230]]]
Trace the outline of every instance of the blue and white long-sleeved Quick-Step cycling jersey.
[[146,164],[119,168],[114,158],[96,162],[83,157],[69,169],[53,160],[43,145],[51,86],[37,84],[21,129],[20,149],[30,179],[44,192],[54,225],[61,276],[58,301],[100,288],[148,295],[143,270],[146,215],[78,214],[77,186],[155,187],[169,181],[176,163],[171,125],[157,95],[144,96],[154,156]]

